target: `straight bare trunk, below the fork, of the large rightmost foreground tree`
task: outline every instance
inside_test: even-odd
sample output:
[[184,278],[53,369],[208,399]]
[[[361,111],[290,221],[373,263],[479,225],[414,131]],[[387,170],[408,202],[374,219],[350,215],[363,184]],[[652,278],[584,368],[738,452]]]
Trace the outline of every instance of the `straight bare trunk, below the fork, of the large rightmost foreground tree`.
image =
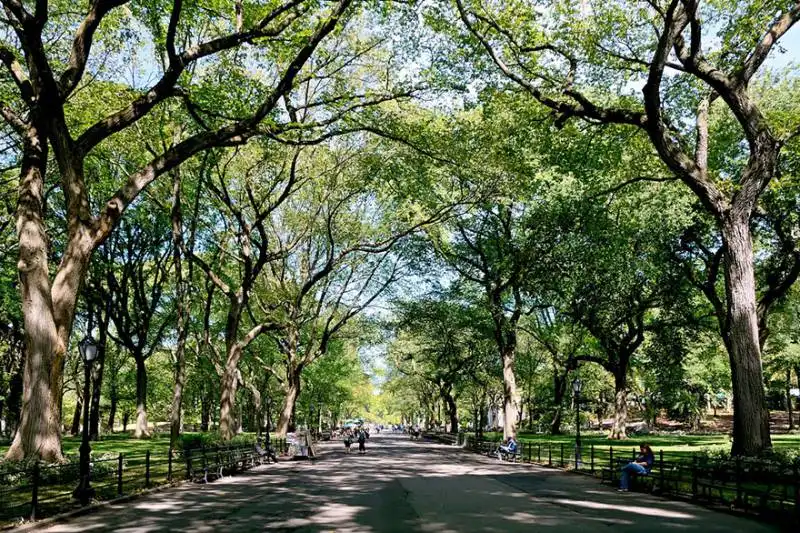
[[728,306],[726,347],[733,382],[733,455],[754,456],[772,448],[761,368],[753,243],[748,217],[722,224]]

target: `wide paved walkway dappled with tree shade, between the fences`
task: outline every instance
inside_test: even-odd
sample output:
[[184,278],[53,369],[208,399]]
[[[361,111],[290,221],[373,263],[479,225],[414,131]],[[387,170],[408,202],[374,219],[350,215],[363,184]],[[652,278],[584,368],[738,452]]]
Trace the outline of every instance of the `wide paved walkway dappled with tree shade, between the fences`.
[[[186,484],[50,526],[51,532],[767,532],[746,518],[628,493],[596,479],[377,435],[208,485]],[[610,527],[609,527],[610,526]]]

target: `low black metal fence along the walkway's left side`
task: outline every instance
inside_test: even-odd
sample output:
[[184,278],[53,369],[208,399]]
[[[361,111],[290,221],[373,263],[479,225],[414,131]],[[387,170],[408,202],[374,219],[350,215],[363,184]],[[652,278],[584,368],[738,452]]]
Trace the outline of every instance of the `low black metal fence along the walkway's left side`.
[[[284,439],[272,439],[285,453]],[[252,444],[94,455],[89,478],[95,501],[107,501],[185,480],[211,481],[249,468],[259,459]],[[65,464],[0,465],[0,527],[77,509],[77,460]]]

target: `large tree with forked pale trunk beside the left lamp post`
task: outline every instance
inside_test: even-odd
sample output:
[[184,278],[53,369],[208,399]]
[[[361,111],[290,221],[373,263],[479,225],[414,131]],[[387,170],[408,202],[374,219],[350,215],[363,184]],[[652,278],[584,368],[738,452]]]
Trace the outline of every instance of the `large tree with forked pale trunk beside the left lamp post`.
[[[17,0],[3,2],[3,26],[11,38],[0,49],[0,59],[6,70],[3,83],[14,91],[4,91],[2,116],[22,146],[17,228],[29,355],[24,369],[29,401],[23,405],[20,429],[6,454],[8,459],[53,461],[61,457],[61,375],[78,292],[92,252],[108,237],[125,209],[158,176],[203,150],[241,144],[259,133],[278,135],[289,129],[290,122],[281,124],[279,120],[271,120],[264,128],[261,124],[276,114],[276,106],[291,93],[317,47],[340,26],[351,4],[350,0],[318,7],[301,0],[272,6],[248,3],[252,25],[230,31],[228,17],[213,16],[214,20],[208,21],[209,12],[199,16],[195,6],[184,6],[181,0],[171,2],[168,18],[162,16],[164,6],[160,3],[136,2],[131,13],[141,16],[141,26],[155,43],[152,49],[158,59],[163,59],[160,77],[145,90],[120,91],[128,100],[114,101],[116,111],[97,109],[94,116],[77,117],[71,107],[78,94],[76,89],[90,83],[98,68],[92,61],[92,52],[120,41],[119,32],[126,23],[119,7],[128,3],[95,0],[75,10],[63,9],[61,2],[41,1],[32,9]],[[183,16],[187,12],[189,16]],[[45,46],[61,28],[75,28],[72,46]],[[200,36],[208,28],[217,33],[204,40]],[[178,48],[180,41],[186,44],[184,50]],[[226,51],[244,43],[253,43],[271,58],[265,64],[277,70],[276,82],[264,87],[260,102],[246,104],[249,112],[226,120],[224,115],[220,117],[204,107],[202,84],[192,86],[191,80],[193,74],[202,73],[193,72],[193,67],[200,61],[222,58]],[[211,82],[214,69],[203,72],[211,76],[207,80]],[[200,119],[194,131],[149,161],[132,162],[133,168],[117,192],[93,211],[87,161],[104,141],[176,101],[183,102],[187,112]],[[45,221],[45,176],[51,153],[65,203],[66,231],[64,253],[52,277]]]

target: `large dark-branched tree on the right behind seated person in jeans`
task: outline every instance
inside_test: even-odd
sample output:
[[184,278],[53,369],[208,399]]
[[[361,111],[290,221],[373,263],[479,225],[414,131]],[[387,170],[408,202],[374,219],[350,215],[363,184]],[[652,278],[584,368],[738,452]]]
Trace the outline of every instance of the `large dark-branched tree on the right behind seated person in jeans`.
[[[713,3],[701,8],[697,0],[651,2],[646,10],[598,4],[580,18],[575,10],[554,10],[547,15],[549,24],[540,24],[538,19],[546,17],[527,10],[512,21],[512,6],[493,9],[464,0],[456,0],[456,6],[473,42],[505,77],[552,109],[557,124],[577,117],[638,129],[713,218],[723,241],[728,295],[723,339],[733,369],[732,451],[755,455],[768,450],[750,221],[775,177],[781,150],[800,128],[795,124],[776,131],[750,83],[776,42],[800,19],[800,4],[735,12]],[[585,16],[591,17],[589,22]],[[619,20],[621,25],[605,24],[606,20]],[[704,20],[714,20],[714,28],[719,28],[713,39],[721,43],[716,50],[703,41],[709,33]],[[644,82],[641,99],[608,94],[610,81],[626,80],[631,86],[632,79]],[[687,91],[688,99],[683,97]],[[667,105],[672,106],[671,115]],[[733,174],[723,176],[708,165],[712,105],[724,106],[736,118],[749,149]],[[686,127],[690,120],[696,125],[693,131]],[[736,187],[727,187],[728,179]]]

